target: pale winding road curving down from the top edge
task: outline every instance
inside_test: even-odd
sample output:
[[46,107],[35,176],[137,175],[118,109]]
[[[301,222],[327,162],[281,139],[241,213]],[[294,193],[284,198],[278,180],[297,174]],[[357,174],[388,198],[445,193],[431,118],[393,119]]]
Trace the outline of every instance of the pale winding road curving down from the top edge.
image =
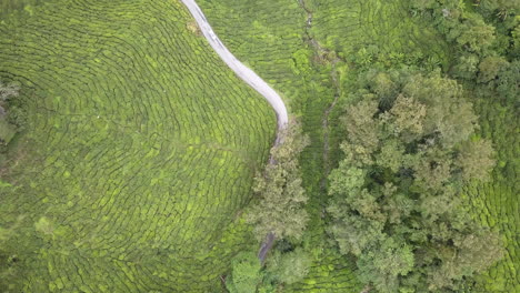
[[[196,3],[194,0],[181,0],[182,3],[188,8],[190,13],[196,19],[197,23],[202,31],[202,34],[208,39],[208,42],[211,44],[213,50],[220,55],[220,58],[228,64],[228,67],[233,70],[237,75],[239,75],[246,83],[248,83],[251,88],[258,91],[266,100],[271,104],[277,112],[278,119],[278,130],[283,129],[289,119],[287,114],[286,104],[283,103],[280,95],[267,84],[257,73],[254,73],[251,69],[247,68],[242,62],[240,62],[229,50],[223,46],[220,41],[219,37],[214,33],[211,29],[211,26],[208,23],[204,14],[200,10],[199,6]],[[279,140],[277,139],[277,143]]]

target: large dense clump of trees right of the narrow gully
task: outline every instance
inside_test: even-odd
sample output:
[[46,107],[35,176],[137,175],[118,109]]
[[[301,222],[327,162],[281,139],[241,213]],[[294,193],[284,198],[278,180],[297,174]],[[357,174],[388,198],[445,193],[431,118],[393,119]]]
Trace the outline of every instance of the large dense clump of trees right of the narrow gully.
[[501,256],[498,234],[460,198],[464,180],[488,180],[494,165],[472,104],[438,72],[370,71],[359,83],[330,175],[330,232],[379,292],[460,289]]

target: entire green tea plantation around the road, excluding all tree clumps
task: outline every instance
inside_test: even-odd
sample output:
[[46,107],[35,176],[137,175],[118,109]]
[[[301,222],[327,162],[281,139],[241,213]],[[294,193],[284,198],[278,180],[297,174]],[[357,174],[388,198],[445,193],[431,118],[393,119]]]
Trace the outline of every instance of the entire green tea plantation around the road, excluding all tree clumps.
[[[342,159],[340,118],[360,72],[448,74],[458,62],[410,1],[197,0],[311,141],[300,158],[310,220],[296,245],[312,265],[274,292],[373,292],[327,230],[328,175]],[[27,117],[0,170],[0,292],[227,292],[233,256],[258,250],[243,215],[276,135],[269,104],[178,0],[0,8],[0,79],[21,85]],[[470,292],[520,292],[518,101],[468,95],[498,164],[462,196],[506,246]]]

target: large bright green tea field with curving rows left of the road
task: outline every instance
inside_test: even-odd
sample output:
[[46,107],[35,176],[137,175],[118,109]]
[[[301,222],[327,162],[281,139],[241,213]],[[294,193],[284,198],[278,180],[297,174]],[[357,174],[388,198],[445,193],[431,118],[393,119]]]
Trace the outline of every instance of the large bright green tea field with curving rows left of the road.
[[1,292],[220,291],[276,119],[178,1],[56,0],[0,26],[21,83]]

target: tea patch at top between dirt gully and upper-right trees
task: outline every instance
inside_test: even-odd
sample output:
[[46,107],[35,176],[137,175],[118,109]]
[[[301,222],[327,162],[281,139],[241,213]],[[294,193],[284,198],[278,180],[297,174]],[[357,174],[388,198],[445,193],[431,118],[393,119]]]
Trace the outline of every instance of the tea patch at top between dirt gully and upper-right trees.
[[[377,48],[392,59],[434,58],[447,64],[447,44],[413,19],[403,0],[304,0],[312,11],[312,36],[343,58]],[[399,60],[399,61],[401,61]]]

